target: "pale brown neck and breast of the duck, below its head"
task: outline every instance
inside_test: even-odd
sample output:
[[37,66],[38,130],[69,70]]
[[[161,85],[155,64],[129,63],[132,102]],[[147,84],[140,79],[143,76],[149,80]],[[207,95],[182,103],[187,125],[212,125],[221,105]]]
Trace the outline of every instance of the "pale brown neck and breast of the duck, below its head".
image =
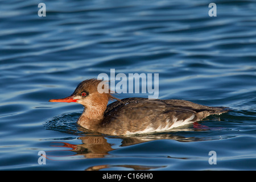
[[77,120],[77,123],[86,129],[97,131],[102,119],[104,118],[105,110],[106,105],[101,107],[84,107],[84,111]]

